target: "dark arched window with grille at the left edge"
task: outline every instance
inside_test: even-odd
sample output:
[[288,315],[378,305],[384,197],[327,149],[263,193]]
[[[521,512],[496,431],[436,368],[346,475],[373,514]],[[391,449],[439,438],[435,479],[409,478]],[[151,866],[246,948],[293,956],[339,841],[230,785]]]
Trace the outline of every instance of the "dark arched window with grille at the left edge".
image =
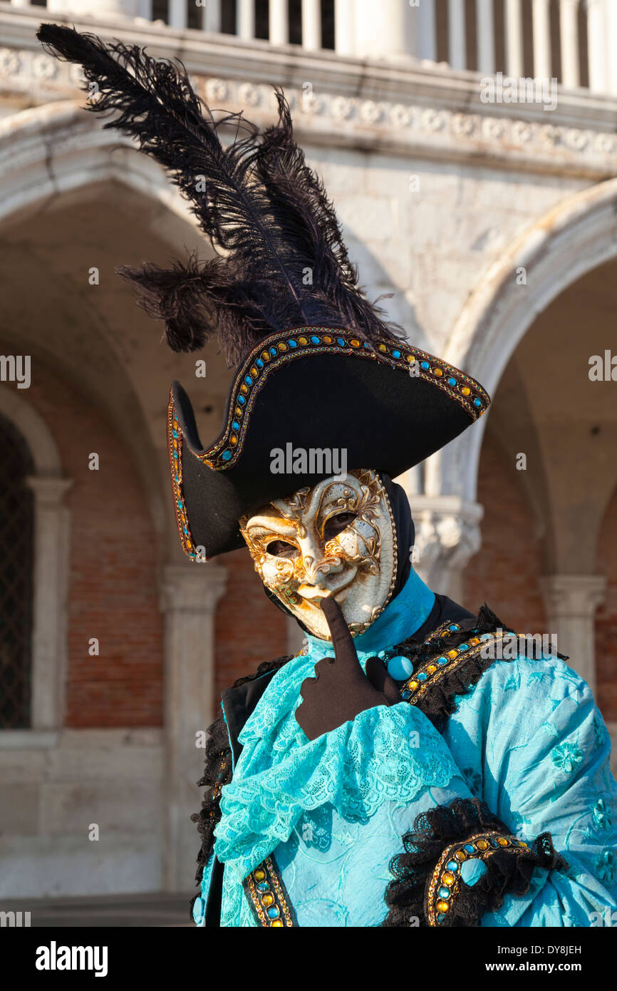
[[0,729],[30,725],[34,464],[24,438],[0,416]]

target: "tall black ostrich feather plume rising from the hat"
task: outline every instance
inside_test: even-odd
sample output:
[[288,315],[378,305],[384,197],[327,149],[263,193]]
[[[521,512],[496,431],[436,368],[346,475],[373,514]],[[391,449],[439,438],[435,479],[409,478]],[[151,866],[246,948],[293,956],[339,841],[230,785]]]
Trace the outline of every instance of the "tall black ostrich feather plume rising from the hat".
[[[230,364],[273,331],[346,327],[366,341],[400,328],[360,291],[334,207],[293,139],[278,88],[278,121],[263,132],[242,113],[215,120],[184,66],[138,46],[44,24],[52,55],[83,66],[87,109],[116,112],[105,128],[135,138],[191,204],[217,257],[189,255],[171,269],[121,267],[147,312],[164,320],[173,351],[196,351],[218,333]],[[231,129],[224,145],[220,132]]]

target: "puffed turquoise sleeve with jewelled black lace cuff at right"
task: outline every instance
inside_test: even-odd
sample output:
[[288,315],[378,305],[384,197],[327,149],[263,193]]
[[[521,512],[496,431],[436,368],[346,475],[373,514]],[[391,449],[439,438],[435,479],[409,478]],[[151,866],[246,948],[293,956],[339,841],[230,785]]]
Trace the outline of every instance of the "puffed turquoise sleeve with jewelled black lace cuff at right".
[[[617,787],[608,732],[586,683],[556,658],[495,661],[458,700],[444,735],[476,796],[479,818],[470,825],[488,833],[494,815],[505,833],[499,839],[494,826],[495,834],[484,837],[501,847],[494,854],[478,855],[470,848],[476,841],[465,846],[457,839],[439,871],[435,863],[437,901],[450,882],[442,899],[450,901],[448,923],[457,925],[457,905],[458,924],[467,926],[588,927],[610,920],[617,907]],[[465,811],[450,811],[456,831]],[[459,872],[457,850],[470,865],[460,864]],[[449,864],[454,882],[445,877]]]

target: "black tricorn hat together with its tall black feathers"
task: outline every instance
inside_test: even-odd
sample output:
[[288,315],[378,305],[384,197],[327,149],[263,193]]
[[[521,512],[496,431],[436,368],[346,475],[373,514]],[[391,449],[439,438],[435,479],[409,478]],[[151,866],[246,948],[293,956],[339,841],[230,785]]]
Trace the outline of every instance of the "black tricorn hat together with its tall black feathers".
[[[104,127],[163,165],[218,253],[169,270],[119,270],[164,321],[173,351],[196,351],[218,333],[239,365],[223,432],[208,448],[188,396],[171,388],[171,481],[190,557],[243,546],[243,515],[343,467],[395,477],[484,412],[480,385],[408,345],[363,296],[280,89],[278,120],[259,131],[242,113],[215,120],[181,63],[53,24],[38,38],[83,67],[84,89],[96,94],[87,109],[116,112]],[[335,468],[337,453],[345,466]]]

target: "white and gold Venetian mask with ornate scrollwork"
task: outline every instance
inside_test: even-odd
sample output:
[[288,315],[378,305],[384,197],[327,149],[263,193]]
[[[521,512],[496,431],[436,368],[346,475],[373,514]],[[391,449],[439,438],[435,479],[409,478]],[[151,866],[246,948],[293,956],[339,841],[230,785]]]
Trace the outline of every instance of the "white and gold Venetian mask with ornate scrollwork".
[[333,596],[353,635],[388,603],[396,581],[396,536],[376,472],[352,471],[274,499],[240,530],[259,578],[321,639],[330,630],[320,603]]

